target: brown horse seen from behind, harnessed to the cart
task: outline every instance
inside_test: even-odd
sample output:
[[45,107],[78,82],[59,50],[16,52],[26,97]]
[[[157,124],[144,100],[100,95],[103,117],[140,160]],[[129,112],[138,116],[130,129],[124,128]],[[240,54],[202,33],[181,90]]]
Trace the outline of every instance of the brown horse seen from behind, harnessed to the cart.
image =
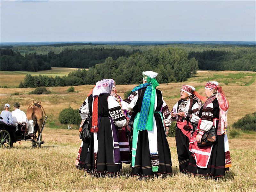
[[[41,101],[36,102],[35,100],[33,101],[33,106],[28,108],[26,112],[26,116],[28,120],[33,120],[34,121],[34,133],[35,135],[33,136],[33,140],[37,140],[36,132],[38,131],[38,137],[42,129],[42,125],[44,123],[44,116],[43,116],[43,111],[41,109]],[[32,105],[32,104],[31,104]],[[32,147],[36,147],[36,143],[32,141]]]

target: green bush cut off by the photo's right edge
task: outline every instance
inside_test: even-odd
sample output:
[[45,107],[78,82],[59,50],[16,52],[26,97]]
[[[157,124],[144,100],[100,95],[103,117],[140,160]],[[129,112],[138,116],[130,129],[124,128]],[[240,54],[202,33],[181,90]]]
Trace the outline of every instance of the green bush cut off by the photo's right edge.
[[233,124],[236,129],[256,131],[256,112],[248,114]]

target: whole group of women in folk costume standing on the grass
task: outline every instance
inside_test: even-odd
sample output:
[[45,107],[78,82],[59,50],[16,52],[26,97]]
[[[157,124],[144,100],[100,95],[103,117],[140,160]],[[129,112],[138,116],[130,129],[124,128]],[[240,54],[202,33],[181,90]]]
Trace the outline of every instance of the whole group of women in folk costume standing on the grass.
[[[128,98],[116,94],[113,79],[96,83],[79,109],[82,119],[90,117],[91,140],[81,143],[77,168],[98,175],[116,175],[122,163],[131,163],[132,174],[148,177],[172,174],[166,138],[176,121],[176,146],[180,172],[219,177],[231,166],[227,140],[228,101],[218,82],[205,84],[206,97],[183,85],[180,100],[169,110],[156,87],[157,73],[142,73],[143,84]],[[204,104],[202,105],[202,101]],[[202,136],[216,127],[217,140],[198,146]]]

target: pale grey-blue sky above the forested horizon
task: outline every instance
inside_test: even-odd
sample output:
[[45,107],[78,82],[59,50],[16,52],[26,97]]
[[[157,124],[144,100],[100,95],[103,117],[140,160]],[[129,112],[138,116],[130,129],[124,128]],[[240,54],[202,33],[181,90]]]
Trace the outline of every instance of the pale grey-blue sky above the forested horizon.
[[255,14],[255,0],[0,0],[0,42],[256,41]]

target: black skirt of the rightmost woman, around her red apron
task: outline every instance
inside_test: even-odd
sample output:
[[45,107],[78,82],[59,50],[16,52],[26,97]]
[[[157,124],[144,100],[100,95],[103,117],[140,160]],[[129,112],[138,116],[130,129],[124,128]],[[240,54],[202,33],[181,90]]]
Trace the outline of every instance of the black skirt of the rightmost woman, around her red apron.
[[217,142],[212,147],[212,153],[207,168],[199,168],[196,161],[191,158],[188,172],[195,175],[220,177],[225,175],[224,135],[217,135]]

